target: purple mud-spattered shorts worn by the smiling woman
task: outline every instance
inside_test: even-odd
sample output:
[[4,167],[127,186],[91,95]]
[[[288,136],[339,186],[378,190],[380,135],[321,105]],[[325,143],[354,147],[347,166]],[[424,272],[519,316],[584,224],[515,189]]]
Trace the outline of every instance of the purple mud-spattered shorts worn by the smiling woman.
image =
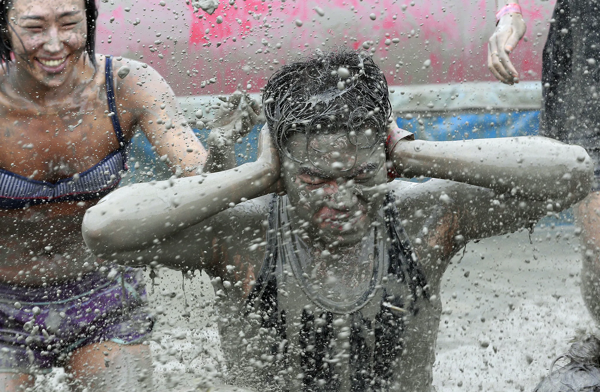
[[145,340],[153,318],[142,272],[102,270],[46,287],[0,283],[0,372],[49,372],[79,347]]

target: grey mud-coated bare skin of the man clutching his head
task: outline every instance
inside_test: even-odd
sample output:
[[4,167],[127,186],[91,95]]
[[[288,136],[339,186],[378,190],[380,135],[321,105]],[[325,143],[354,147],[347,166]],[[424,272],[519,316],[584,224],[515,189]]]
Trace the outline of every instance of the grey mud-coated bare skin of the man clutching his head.
[[[202,182],[176,179],[119,189],[88,210],[82,230],[94,253],[110,254],[120,263],[205,269],[213,278],[218,296],[215,306],[220,310],[223,349],[232,360],[229,382],[251,387],[260,383],[270,390],[277,381],[264,370],[269,366],[257,366],[252,359],[269,352],[269,348],[264,346],[264,336],[251,333],[253,324],[248,317],[256,314],[254,307],[244,308],[265,259],[269,196],[260,195],[268,192],[280,173],[277,154],[269,148],[265,131],[261,137],[257,162],[209,174]],[[289,143],[299,152],[302,137],[295,136]],[[439,177],[425,183],[396,180],[386,184],[385,165],[379,165],[383,155],[380,149],[368,158],[357,159],[374,163],[371,168],[377,169],[372,173],[349,170],[342,174],[341,170],[350,167],[346,145],[336,141],[332,146],[331,138],[326,136],[318,143],[331,146],[316,162],[319,167],[298,164],[286,156],[281,163],[287,211],[292,217],[289,233],[296,233],[316,249],[314,264],[319,267],[311,274],[322,281],[329,277],[360,285],[365,266],[352,263],[352,250],[358,249],[361,235],[371,233],[365,231],[368,224],[382,223],[371,210],[377,210],[375,206],[383,203],[389,191],[427,280],[429,301],[410,319],[414,327],[410,330],[420,332],[406,337],[406,351],[394,367],[394,388],[398,390],[409,385],[412,390],[430,388],[442,310],[440,279],[452,256],[469,240],[529,228],[548,209],[565,209],[577,203],[591,183],[592,168],[583,149],[542,137],[397,143],[388,152],[395,169],[410,176]],[[527,150],[539,154],[529,156]],[[334,162],[328,164],[329,159]],[[487,161],[491,161],[489,165]],[[269,175],[264,176],[266,173]],[[459,179],[463,182],[455,181]],[[542,183],[554,186],[544,188]],[[132,195],[137,195],[137,201]],[[227,208],[229,203],[239,204]],[[364,224],[352,221],[356,218],[349,212],[361,212],[355,216],[365,219]],[[345,225],[348,222],[352,224]],[[283,273],[295,282],[289,271]],[[298,284],[287,284],[284,291],[288,295],[279,297],[281,305],[310,307],[311,301],[298,290]],[[346,322],[343,318],[340,325]],[[294,328],[296,324],[290,320],[288,325]],[[264,363],[265,358],[260,358]],[[248,373],[249,369],[254,372]],[[293,367],[283,370],[281,377],[299,376]],[[266,374],[271,374],[270,378]],[[288,386],[296,390],[296,384],[292,380]]]

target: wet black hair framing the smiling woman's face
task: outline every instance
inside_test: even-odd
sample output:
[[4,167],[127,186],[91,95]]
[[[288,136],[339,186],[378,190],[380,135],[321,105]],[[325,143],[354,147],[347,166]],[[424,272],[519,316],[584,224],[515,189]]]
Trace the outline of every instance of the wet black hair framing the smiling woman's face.
[[[26,0],[0,0],[0,61],[2,67],[8,70],[10,64],[10,53],[13,52],[13,44],[10,42],[10,34],[8,29],[13,29],[8,23],[8,11],[15,1],[26,1]],[[96,67],[95,58],[95,46],[96,46],[96,20],[98,20],[98,7],[96,6],[95,0],[83,0],[83,7],[85,8],[85,19],[88,25],[87,37],[85,41],[85,53],[84,56],[88,56],[89,60]],[[14,34],[19,37],[16,31]],[[19,38],[20,40],[20,38]],[[22,43],[20,43],[22,45]]]

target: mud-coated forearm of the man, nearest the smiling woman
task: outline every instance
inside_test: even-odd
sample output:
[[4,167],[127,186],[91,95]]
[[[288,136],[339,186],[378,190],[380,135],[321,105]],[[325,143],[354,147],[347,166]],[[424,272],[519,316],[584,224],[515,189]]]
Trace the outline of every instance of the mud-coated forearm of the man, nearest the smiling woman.
[[82,234],[95,254],[133,251],[259,196],[274,183],[259,160],[232,170],[117,189],[83,218]]

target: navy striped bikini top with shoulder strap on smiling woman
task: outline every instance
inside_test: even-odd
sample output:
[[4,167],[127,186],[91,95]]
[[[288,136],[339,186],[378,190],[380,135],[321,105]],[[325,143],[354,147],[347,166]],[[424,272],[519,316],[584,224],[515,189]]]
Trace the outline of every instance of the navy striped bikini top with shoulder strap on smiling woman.
[[115,103],[112,56],[106,56],[104,75],[108,106],[112,113],[109,116],[121,147],[88,170],[55,183],[31,180],[0,168],[0,210],[20,209],[59,201],[94,200],[103,197],[119,185],[121,174],[126,170],[127,143],[123,137]]

